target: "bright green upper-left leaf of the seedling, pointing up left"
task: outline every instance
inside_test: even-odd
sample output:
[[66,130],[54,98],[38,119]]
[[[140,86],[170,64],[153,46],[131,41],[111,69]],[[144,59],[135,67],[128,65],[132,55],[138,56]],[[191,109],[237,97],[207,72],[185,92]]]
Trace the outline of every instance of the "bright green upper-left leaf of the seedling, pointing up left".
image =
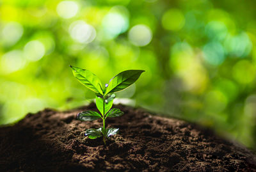
[[90,90],[95,91],[96,93],[100,93],[100,95],[103,95],[102,84],[100,82],[100,79],[96,75],[94,75],[89,70],[84,70],[83,68],[77,68],[71,65],[70,67],[72,68],[72,72],[79,82],[81,82]]

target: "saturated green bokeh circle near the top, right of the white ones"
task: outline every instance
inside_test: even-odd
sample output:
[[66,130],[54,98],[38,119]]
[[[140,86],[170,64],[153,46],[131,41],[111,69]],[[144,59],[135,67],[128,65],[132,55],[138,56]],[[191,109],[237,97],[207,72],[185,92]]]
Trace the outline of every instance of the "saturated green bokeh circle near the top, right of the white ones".
[[179,9],[170,9],[162,17],[164,29],[179,31],[185,24],[183,13]]

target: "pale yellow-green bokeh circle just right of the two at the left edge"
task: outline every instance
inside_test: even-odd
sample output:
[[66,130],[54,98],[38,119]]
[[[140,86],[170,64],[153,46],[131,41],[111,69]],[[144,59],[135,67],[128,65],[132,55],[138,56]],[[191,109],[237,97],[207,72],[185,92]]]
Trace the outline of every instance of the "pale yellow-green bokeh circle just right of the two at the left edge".
[[45,54],[44,44],[38,40],[26,43],[24,47],[24,57],[29,61],[38,61]]

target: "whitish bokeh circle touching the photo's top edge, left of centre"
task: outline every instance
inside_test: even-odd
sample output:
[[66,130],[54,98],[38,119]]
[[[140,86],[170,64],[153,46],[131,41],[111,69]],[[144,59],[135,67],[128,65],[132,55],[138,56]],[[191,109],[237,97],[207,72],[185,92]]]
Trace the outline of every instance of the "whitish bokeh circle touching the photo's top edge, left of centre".
[[74,1],[61,1],[57,6],[57,13],[64,19],[74,17],[78,12],[78,5]]

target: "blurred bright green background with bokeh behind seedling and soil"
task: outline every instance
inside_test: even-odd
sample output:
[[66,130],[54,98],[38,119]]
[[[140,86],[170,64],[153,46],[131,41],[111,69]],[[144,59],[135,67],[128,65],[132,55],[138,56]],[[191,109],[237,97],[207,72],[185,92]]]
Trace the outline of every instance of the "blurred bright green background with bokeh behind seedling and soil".
[[212,127],[255,149],[255,1],[0,1],[0,124],[94,97],[79,66],[107,83],[141,69],[118,102]]

